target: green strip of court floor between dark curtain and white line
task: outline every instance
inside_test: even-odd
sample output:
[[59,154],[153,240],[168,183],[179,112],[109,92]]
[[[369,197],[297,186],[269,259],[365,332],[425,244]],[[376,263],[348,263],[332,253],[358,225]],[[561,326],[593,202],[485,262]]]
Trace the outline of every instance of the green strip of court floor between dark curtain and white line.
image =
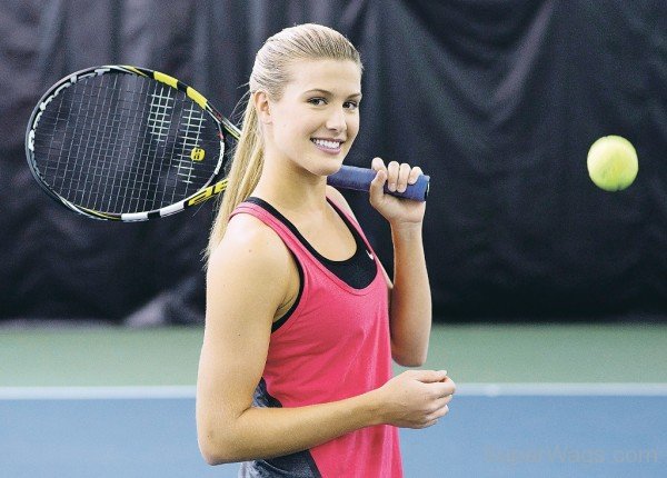
[[[191,386],[203,329],[0,329],[0,387]],[[667,325],[437,325],[424,368],[468,382],[667,382]],[[399,368],[397,368],[399,371]]]

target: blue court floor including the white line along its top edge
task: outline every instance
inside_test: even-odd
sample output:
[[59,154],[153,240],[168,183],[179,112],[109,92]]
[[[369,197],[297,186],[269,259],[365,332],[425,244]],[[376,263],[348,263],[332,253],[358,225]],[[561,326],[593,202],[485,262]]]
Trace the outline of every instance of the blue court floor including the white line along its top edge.
[[[236,477],[197,448],[192,387],[4,388],[0,476]],[[460,386],[401,430],[406,477],[665,477],[664,384]]]

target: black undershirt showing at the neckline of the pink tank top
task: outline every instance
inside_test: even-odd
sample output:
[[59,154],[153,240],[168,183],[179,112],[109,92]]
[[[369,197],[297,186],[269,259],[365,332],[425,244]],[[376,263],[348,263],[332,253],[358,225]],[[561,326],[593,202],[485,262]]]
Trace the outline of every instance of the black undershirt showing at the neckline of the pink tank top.
[[368,287],[377,275],[377,266],[372,258],[372,255],[366,247],[366,242],[357,228],[349,221],[349,219],[338,209],[338,207],[327,198],[327,201],[336,213],[342,219],[346,227],[355,238],[355,253],[349,259],[345,260],[331,260],[319,253],[306,238],[299,232],[297,227],[290,222],[285,216],[282,216],[275,207],[257,197],[250,197],[246,199],[246,202],[251,202],[263,208],[267,212],[272,215],[276,219],[282,222],[295,237],[308,249],[308,251],[319,260],[331,273],[342,280],[345,283],[354,289],[365,289]]

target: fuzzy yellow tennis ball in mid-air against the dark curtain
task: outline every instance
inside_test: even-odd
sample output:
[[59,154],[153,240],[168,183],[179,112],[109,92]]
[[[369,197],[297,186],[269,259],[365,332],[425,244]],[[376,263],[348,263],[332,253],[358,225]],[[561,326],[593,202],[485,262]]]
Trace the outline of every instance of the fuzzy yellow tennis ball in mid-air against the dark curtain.
[[619,136],[606,136],[588,150],[588,176],[605,191],[620,191],[633,183],[639,165],[630,141]]

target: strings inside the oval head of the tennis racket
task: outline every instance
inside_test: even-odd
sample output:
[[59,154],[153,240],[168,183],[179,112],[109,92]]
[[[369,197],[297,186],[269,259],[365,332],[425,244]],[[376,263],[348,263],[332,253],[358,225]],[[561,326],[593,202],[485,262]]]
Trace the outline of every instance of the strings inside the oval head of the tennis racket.
[[44,182],[78,206],[117,213],[156,210],[197,192],[221,149],[217,123],[182,91],[130,74],[64,88],[36,130]]

